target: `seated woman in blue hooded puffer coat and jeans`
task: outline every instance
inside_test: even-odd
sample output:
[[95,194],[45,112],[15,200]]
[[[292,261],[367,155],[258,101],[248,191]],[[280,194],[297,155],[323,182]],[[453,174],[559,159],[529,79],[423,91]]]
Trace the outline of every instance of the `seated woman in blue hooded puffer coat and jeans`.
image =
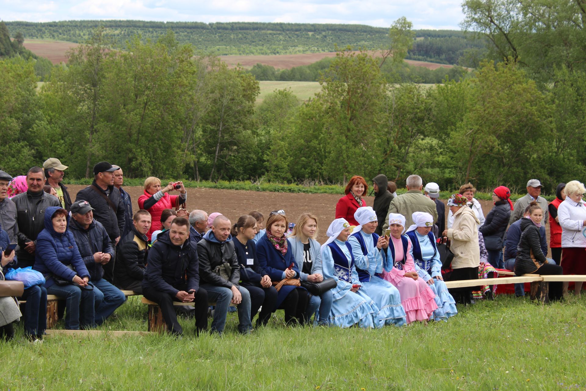
[[[81,259],[73,234],[67,229],[69,214],[57,206],[45,212],[45,229],[36,242],[35,270],[45,276],[47,294],[65,299],[65,328],[79,330],[94,326],[94,291],[90,273]],[[67,281],[59,285],[54,277]]]

